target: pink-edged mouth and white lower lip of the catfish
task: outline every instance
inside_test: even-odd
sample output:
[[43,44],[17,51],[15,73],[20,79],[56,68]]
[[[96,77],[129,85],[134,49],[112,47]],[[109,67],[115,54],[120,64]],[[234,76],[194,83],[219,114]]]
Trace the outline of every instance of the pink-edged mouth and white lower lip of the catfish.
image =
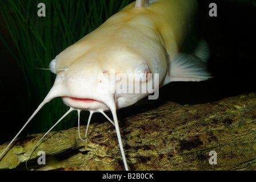
[[62,100],[67,106],[71,106],[75,109],[81,110],[109,110],[109,107],[106,106],[101,101],[94,100],[92,98],[77,98],[63,96]]

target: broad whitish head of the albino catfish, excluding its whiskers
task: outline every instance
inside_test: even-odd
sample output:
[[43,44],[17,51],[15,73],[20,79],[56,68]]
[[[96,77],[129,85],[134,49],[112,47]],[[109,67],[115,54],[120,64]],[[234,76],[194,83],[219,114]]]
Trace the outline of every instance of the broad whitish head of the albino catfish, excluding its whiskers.
[[[72,49],[71,49],[72,48]],[[57,74],[53,88],[63,102],[81,110],[110,110],[133,105],[149,92],[150,68],[142,57],[126,49],[76,51],[65,49],[50,63]]]

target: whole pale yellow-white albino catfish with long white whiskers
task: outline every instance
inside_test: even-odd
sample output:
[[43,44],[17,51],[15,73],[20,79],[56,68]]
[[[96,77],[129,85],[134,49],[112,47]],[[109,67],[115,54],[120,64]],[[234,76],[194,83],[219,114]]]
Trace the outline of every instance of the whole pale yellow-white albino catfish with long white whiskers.
[[[95,112],[113,123],[128,170],[116,110],[158,92],[171,81],[210,78],[205,42],[198,43],[194,55],[182,52],[193,30],[196,11],[196,0],[137,0],[59,53],[49,65],[50,71],[57,74],[53,87],[2,152],[0,160],[41,107],[55,97],[62,97],[70,107],[62,118],[77,110],[79,122],[80,111],[88,110],[88,125]],[[111,111],[114,122],[104,111]]]

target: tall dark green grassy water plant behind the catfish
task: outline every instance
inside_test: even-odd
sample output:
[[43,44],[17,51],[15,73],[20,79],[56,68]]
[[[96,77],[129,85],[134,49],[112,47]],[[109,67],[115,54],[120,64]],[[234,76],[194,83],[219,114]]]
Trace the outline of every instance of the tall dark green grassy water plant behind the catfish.
[[[0,34],[25,76],[29,92],[28,114],[32,114],[53,85],[55,75],[48,68],[63,49],[100,26],[109,16],[125,7],[129,0],[1,0],[0,11],[18,50]],[[44,3],[46,16],[38,16],[39,3]],[[27,133],[47,131],[69,108],[61,98],[43,106],[31,122]],[[63,130],[74,126],[77,114],[69,114],[55,127]],[[23,119],[23,118],[22,118]],[[85,118],[86,119],[86,118]]]

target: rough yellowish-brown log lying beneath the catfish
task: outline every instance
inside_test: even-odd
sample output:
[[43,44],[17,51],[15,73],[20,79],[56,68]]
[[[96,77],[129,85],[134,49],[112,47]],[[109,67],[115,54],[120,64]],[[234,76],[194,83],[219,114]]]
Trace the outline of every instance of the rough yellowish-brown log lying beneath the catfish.
[[[256,169],[256,93],[191,106],[168,101],[119,123],[127,163],[132,170]],[[81,135],[85,129],[81,126]],[[26,169],[27,155],[42,135],[15,140],[0,168]],[[0,152],[6,146],[7,143],[0,146]],[[45,151],[46,165],[37,164],[38,151]],[[217,152],[217,164],[209,164],[210,151]],[[77,127],[50,132],[35,148],[27,167],[124,169],[110,122],[90,125],[86,141],[79,139]]]

